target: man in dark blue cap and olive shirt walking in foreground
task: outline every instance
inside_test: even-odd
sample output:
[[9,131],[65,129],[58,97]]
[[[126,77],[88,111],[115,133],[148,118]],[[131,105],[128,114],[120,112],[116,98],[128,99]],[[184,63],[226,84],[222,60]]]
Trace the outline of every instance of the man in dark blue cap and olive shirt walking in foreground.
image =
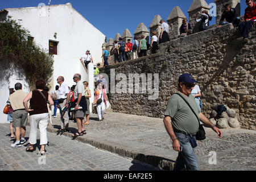
[[[199,170],[199,164],[194,152],[196,147],[195,134],[199,130],[198,118],[206,126],[211,127],[218,134],[218,138],[222,136],[221,130],[213,125],[197,107],[196,101],[191,95],[195,82],[197,81],[191,74],[181,75],[179,77],[178,92],[172,95],[164,112],[164,126],[171,137],[172,147],[179,152],[174,171],[185,168],[189,171]],[[192,107],[195,114],[183,98]]]

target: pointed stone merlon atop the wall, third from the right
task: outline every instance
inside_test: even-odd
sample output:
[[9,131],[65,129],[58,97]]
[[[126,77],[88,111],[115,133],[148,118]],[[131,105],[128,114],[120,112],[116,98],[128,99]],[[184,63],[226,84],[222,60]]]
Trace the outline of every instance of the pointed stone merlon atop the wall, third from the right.
[[185,18],[186,16],[181,11],[179,6],[176,6],[174,9],[172,9],[167,19],[167,22],[170,26],[170,40],[176,39],[180,35],[180,26],[182,24],[182,20]]

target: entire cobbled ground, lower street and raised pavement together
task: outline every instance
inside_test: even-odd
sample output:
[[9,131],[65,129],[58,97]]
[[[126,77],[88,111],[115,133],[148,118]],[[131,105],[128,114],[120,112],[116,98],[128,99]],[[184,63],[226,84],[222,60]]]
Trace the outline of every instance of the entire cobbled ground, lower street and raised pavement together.
[[[164,129],[163,119],[159,118],[107,111],[105,121],[98,122],[97,114],[90,114],[87,134],[75,140],[72,140],[72,133],[77,131],[76,123],[69,121],[71,133],[61,135],[57,132],[60,118],[54,118],[47,129],[49,146],[46,146],[46,165],[38,164],[36,152],[28,153],[23,146],[10,147],[13,142],[6,136],[9,134],[8,124],[1,126],[1,170],[170,170],[177,157]],[[205,131],[207,139],[197,141],[195,149],[200,170],[256,170],[256,131],[222,129],[223,137],[220,139],[212,129],[205,127]],[[26,137],[29,132],[28,127]],[[216,164],[209,164],[213,154],[216,154]],[[135,164],[135,161],[149,163],[154,168]]]

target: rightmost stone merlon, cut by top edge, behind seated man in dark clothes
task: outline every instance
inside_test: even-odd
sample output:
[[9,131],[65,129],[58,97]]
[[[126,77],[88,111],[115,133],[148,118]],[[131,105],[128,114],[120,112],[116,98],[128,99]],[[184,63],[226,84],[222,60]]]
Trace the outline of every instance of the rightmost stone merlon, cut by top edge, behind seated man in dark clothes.
[[[216,3],[216,24],[220,23],[221,15],[224,12],[224,6],[229,4],[232,8],[237,10],[237,15],[241,15],[240,0],[215,0]],[[243,12],[244,13],[244,12]]]

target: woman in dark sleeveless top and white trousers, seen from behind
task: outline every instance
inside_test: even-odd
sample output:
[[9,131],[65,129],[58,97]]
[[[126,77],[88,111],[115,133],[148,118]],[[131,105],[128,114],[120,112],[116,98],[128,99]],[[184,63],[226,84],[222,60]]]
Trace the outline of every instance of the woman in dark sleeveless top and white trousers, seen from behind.
[[[47,139],[47,124],[49,113],[47,108],[47,101],[49,105],[54,104],[52,97],[48,92],[44,91],[46,82],[43,80],[36,81],[36,90],[31,91],[24,98],[23,104],[28,113],[30,113],[30,146],[26,148],[27,152],[33,152],[36,144],[36,134],[39,126],[40,131],[40,151],[38,154],[44,155],[46,152]],[[27,102],[30,101],[31,109],[28,109]]]

